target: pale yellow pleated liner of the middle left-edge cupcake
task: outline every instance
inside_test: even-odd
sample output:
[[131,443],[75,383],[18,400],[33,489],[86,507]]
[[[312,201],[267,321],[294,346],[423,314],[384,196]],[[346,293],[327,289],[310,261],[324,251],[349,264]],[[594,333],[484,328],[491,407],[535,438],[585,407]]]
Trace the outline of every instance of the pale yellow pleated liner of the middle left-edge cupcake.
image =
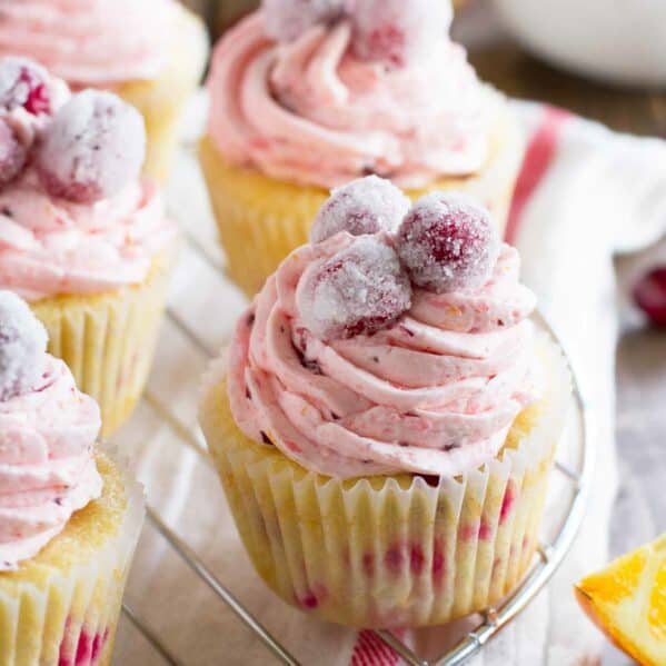
[[49,334],[49,352],[97,400],[102,435],[129,418],[155,354],[171,259],[157,257],[141,285],[92,296],[54,296],[30,304]]

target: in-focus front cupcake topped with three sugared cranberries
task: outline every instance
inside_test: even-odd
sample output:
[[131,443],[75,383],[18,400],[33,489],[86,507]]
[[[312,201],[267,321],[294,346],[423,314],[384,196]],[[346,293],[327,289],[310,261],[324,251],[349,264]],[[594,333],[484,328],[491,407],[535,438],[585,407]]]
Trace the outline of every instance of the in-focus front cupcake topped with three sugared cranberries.
[[365,203],[332,195],[240,319],[200,423],[282,599],[357,627],[438,625],[526,573],[568,370],[487,210],[354,187]]

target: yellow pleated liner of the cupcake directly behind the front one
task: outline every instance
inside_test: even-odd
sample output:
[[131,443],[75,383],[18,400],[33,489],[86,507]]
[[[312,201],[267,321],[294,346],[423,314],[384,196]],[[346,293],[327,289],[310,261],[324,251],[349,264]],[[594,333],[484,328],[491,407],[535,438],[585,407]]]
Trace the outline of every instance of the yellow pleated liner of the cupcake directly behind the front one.
[[[524,141],[504,98],[488,89],[489,107],[497,109],[487,163],[475,176],[447,178],[407,193],[416,199],[427,191],[459,190],[487,206],[500,231],[523,159]],[[317,211],[328,190],[268,178],[230,165],[212,139],[203,137],[199,159],[227,255],[229,277],[248,296],[264,286],[280,261],[308,240]]]

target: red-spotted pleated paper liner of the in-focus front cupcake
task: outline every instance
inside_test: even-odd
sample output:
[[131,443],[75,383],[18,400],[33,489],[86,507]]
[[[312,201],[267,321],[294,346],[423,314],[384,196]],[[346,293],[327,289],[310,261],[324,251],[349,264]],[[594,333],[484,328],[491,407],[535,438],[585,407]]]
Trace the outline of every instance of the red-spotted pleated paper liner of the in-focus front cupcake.
[[318,476],[236,427],[223,364],[200,420],[236,525],[287,603],[357,627],[438,625],[505,597],[529,566],[570,406],[559,348],[539,335],[547,394],[516,419],[490,464],[437,486],[418,476]]

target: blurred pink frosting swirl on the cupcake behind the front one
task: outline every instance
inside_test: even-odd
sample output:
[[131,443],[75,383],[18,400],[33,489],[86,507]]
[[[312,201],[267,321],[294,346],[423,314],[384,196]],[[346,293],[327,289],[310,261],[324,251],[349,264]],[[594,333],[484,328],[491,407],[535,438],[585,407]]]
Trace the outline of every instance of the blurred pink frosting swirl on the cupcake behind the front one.
[[354,56],[351,28],[316,26],[277,44],[257,12],[213,53],[209,132],[220,152],[281,180],[339,186],[368,172],[402,187],[479,169],[487,153],[480,86],[443,38],[417,66]]

